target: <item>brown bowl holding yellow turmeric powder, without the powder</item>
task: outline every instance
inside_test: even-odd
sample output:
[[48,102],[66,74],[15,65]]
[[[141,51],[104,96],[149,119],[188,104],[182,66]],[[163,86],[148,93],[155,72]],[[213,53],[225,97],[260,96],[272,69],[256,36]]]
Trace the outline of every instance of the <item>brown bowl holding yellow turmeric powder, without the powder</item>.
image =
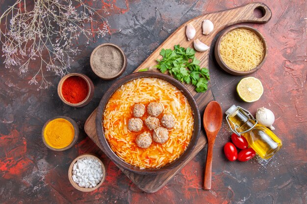
[[[51,146],[46,142],[45,136],[44,136],[45,128],[46,128],[46,126],[48,125],[48,123],[49,123],[51,120],[54,120],[54,119],[57,119],[57,118],[62,118],[62,119],[68,120],[68,121],[73,125],[74,130],[75,130],[75,135],[74,135],[73,141],[72,141],[67,147],[60,148],[60,149],[51,147]],[[54,150],[54,151],[64,151],[64,150],[67,150],[67,149],[71,148],[72,146],[74,146],[74,145],[76,144],[76,142],[77,142],[77,140],[78,140],[78,137],[79,137],[79,128],[78,128],[78,125],[77,125],[76,121],[73,120],[72,118],[66,117],[66,116],[56,116],[56,117],[52,117],[51,119],[49,119],[49,120],[45,123],[45,125],[44,125],[44,127],[43,127],[43,129],[42,129],[42,139],[43,139],[44,144],[45,144],[49,149]]]

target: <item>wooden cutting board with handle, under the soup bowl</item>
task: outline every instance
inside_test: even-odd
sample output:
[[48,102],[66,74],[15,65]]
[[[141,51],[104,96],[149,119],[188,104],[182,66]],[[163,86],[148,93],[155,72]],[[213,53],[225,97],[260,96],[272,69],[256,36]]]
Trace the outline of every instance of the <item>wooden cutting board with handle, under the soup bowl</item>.
[[[254,10],[259,9],[264,15],[262,18],[256,18]],[[187,41],[185,35],[185,27],[187,23],[192,23],[196,28],[195,39],[199,39],[201,42],[205,43],[208,46],[211,45],[214,37],[218,32],[227,26],[236,24],[236,23],[267,23],[272,16],[271,10],[263,3],[249,3],[244,6],[236,7],[233,9],[219,11],[214,13],[205,14],[203,16],[196,17],[184,24],[182,24],[174,33],[172,33],[153,53],[138,67],[134,72],[137,72],[140,69],[150,68],[156,65],[156,59],[160,58],[159,52],[162,48],[171,48],[174,49],[174,45],[180,44],[183,47],[193,47],[193,40]],[[209,35],[202,34],[202,22],[208,19],[214,24],[214,30]],[[201,61],[200,66],[203,68],[208,68],[209,63],[209,51],[197,52],[195,54],[196,58]],[[152,71],[158,71],[153,69]],[[208,86],[208,90],[205,93],[196,93],[194,91],[194,86],[185,84],[189,91],[194,95],[194,98],[198,104],[201,115],[203,115],[205,106],[213,100],[213,95],[211,91],[211,85]],[[84,130],[86,134],[97,144],[99,148],[104,151],[102,145],[99,143],[97,134],[96,134],[96,112],[97,109],[88,117],[85,122]],[[207,143],[205,131],[202,129],[198,143],[189,156],[184,162],[182,162],[177,168],[163,174],[159,175],[141,175],[133,172],[129,172],[123,168],[120,168],[126,176],[140,189],[145,192],[156,192],[161,187],[163,187],[170,179],[172,179],[191,159],[193,159],[205,146]],[[205,165],[205,164],[204,164]]]

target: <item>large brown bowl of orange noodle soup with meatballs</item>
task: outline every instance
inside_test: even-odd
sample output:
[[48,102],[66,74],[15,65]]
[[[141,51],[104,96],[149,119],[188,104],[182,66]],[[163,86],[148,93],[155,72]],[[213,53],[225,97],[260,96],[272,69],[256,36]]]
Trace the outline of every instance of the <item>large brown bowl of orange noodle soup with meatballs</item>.
[[137,72],[103,95],[96,132],[104,153],[118,166],[158,174],[187,159],[200,121],[195,99],[183,84],[166,74]]

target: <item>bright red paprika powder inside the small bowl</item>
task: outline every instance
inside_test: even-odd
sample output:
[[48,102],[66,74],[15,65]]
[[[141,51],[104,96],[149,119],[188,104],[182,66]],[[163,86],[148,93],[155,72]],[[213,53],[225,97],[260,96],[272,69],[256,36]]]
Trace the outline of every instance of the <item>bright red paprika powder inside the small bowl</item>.
[[62,85],[62,94],[70,103],[80,103],[88,94],[87,82],[80,76],[68,77]]

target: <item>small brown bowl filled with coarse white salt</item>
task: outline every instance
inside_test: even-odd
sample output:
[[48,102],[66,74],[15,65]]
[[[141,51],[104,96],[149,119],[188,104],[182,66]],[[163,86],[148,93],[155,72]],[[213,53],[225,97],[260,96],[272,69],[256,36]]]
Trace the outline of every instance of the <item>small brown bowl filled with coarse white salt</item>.
[[98,189],[105,179],[102,160],[93,154],[83,154],[73,160],[68,169],[70,183],[79,191]]

